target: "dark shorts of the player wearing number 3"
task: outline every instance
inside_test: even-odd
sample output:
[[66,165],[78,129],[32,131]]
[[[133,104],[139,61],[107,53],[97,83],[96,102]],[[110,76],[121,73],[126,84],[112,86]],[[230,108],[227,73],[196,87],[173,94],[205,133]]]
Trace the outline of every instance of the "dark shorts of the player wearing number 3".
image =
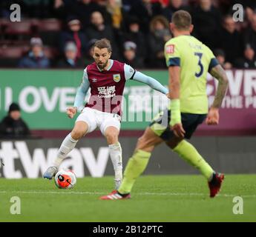
[[[186,131],[185,138],[191,138],[199,124],[206,119],[206,114],[181,113],[181,121]],[[165,141],[174,137],[174,133],[170,128],[171,110],[163,110],[151,121],[149,127],[157,136]]]

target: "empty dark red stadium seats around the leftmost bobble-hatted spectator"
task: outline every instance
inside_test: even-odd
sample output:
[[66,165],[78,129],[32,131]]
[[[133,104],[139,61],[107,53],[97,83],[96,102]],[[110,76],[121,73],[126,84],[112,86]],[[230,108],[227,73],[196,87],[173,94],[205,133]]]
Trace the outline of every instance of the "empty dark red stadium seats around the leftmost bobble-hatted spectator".
[[58,19],[24,19],[21,22],[0,19],[1,67],[17,66],[22,56],[30,49],[31,36],[42,38],[45,45],[44,53],[48,59],[59,56],[56,45],[60,30],[62,30],[62,21]]

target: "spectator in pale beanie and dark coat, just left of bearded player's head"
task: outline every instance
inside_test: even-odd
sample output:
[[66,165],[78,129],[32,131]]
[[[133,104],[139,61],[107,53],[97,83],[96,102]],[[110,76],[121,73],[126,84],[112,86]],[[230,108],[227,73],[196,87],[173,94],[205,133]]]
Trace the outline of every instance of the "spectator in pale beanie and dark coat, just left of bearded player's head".
[[72,41],[65,45],[65,58],[59,61],[58,66],[60,68],[82,68],[85,67],[81,58],[77,58],[76,44]]

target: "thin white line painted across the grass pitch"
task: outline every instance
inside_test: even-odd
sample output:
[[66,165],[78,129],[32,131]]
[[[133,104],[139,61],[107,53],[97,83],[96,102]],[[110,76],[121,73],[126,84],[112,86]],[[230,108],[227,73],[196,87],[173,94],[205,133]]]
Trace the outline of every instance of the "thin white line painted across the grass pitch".
[[[62,195],[107,195],[107,193],[102,192],[76,192],[76,191],[68,191],[68,192],[56,192],[56,191],[0,191],[1,193],[30,193],[30,194],[62,194]],[[135,195],[139,196],[207,196],[207,193],[136,193]],[[218,194],[217,196],[222,197],[235,197],[241,196],[242,198],[256,198],[256,195],[238,195],[238,194]]]

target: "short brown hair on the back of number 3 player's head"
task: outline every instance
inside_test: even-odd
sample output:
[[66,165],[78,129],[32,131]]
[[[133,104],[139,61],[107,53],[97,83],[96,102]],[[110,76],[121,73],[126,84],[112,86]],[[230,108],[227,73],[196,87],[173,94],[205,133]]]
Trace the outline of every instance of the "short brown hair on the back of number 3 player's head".
[[189,30],[192,24],[191,15],[186,10],[177,10],[172,15],[171,22],[177,27],[178,30]]

